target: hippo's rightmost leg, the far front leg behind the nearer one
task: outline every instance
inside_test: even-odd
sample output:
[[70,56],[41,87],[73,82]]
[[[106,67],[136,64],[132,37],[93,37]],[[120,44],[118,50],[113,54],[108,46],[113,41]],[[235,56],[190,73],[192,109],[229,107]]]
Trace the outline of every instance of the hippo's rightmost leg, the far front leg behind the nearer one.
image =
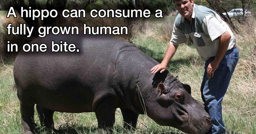
[[131,128],[135,129],[137,126],[138,113],[126,108],[120,108],[124,118],[124,128],[130,130]]

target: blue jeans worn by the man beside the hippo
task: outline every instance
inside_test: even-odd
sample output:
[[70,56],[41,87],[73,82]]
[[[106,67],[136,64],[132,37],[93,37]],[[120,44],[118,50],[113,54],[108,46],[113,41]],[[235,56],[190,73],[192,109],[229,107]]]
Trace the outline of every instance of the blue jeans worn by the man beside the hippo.
[[201,85],[201,95],[206,111],[212,119],[211,134],[224,134],[225,126],[222,121],[221,101],[227,91],[231,76],[239,58],[238,48],[228,50],[214,72],[213,78],[207,77],[207,67],[214,60],[210,58],[205,62],[204,78]]

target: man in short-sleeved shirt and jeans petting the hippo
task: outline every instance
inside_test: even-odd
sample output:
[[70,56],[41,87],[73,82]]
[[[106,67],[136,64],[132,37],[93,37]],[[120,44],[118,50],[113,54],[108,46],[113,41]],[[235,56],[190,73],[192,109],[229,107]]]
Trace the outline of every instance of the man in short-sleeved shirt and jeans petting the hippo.
[[173,25],[171,40],[161,64],[152,73],[166,70],[178,45],[189,39],[205,61],[201,85],[202,100],[212,119],[212,134],[225,133],[221,101],[237,64],[239,53],[228,25],[213,10],[194,4],[193,0],[173,0],[180,13]]

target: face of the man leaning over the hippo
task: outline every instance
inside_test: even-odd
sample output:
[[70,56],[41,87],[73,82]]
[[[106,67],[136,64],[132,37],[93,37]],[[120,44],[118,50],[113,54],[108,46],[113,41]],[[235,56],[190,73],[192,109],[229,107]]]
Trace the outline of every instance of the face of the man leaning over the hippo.
[[192,12],[193,12],[193,0],[174,0],[175,1],[175,8],[178,10],[181,16],[191,20]]

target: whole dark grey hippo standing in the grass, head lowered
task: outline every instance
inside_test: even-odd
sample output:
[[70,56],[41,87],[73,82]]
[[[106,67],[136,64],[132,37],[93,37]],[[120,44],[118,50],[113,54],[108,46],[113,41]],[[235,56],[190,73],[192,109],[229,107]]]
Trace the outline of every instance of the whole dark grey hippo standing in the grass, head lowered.
[[[51,52],[51,41],[74,43],[80,52]],[[34,105],[41,125],[54,128],[54,111],[95,112],[100,130],[111,128],[120,107],[124,127],[136,127],[139,114],[157,124],[186,133],[204,134],[211,121],[204,105],[190,95],[190,87],[168,71],[151,74],[158,64],[135,45],[109,36],[48,35],[31,43],[45,43],[45,53],[20,52],[14,80],[25,133],[34,132]],[[186,90],[185,90],[186,88]],[[190,93],[189,93],[190,92]]]

